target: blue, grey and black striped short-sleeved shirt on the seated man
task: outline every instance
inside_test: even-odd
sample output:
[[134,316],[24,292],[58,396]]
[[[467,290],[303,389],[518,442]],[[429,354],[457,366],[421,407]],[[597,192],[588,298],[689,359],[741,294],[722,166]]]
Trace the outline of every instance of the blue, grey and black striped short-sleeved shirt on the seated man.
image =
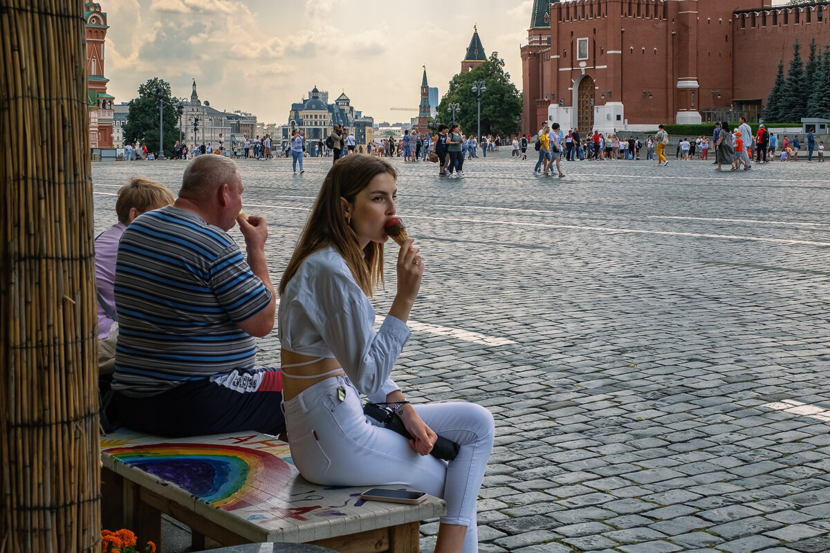
[[224,230],[174,206],[144,213],[118,247],[113,389],[155,395],[253,368],[256,338],[237,322],[270,302],[271,291]]

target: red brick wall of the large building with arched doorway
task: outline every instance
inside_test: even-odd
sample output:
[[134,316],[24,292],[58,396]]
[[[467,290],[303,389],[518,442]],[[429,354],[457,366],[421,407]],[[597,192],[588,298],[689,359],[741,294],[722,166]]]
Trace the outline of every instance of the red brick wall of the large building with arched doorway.
[[[805,46],[805,59],[813,36],[820,46],[830,44],[828,7],[824,7],[821,23],[817,22],[817,7],[812,7],[811,22],[806,22],[802,12],[796,24],[791,13],[787,26],[778,16],[778,27],[772,27],[771,22],[760,27],[761,17],[756,15],[753,28],[750,17],[743,22],[744,14],[735,14],[749,9],[763,12],[764,7],[767,12],[784,11],[783,7],[770,8],[770,2],[579,0],[552,4],[551,28],[531,29],[530,46],[522,48],[524,126],[535,132],[541,112],[546,115],[545,95],[553,98],[551,103],[563,99],[564,105],[574,105],[569,89],[583,71],[596,81],[596,103],[622,101],[630,124],[673,123],[678,110],[729,107],[733,99],[765,101],[779,57],[783,53],[785,63],[789,61],[796,35]],[[769,21],[771,16],[767,18]],[[549,53],[540,53],[534,36],[549,37]],[[584,67],[576,59],[580,37],[588,37]],[[696,80],[699,87],[679,89],[679,80]],[[611,90],[611,97],[602,99],[607,90]]]

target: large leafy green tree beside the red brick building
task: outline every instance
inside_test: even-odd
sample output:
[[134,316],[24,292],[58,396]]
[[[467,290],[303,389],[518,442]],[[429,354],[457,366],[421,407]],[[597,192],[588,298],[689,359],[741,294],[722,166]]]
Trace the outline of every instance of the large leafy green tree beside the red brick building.
[[[502,137],[519,132],[522,110],[521,93],[510,82],[510,73],[505,73],[505,61],[494,51],[490,58],[466,73],[452,77],[447,94],[438,104],[438,117],[443,123],[452,119],[447,111],[449,104],[458,103],[461,111],[456,122],[464,133],[476,133],[478,126],[476,93],[472,84],[476,80],[486,83],[486,92],[481,93],[481,134],[500,134]],[[481,138],[481,137],[479,137]]]

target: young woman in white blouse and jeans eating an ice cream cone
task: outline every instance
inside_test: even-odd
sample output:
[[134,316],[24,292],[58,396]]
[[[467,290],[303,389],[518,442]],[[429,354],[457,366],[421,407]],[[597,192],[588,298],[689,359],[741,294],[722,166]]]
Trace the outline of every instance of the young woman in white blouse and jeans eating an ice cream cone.
[[[447,501],[436,551],[478,551],[476,499],[490,457],[490,411],[466,402],[411,405],[391,377],[424,264],[413,239],[398,251],[398,289],[375,331],[369,296],[382,282],[397,172],[382,158],[347,156],[325,177],[280,283],[279,337],[291,458],[324,486],[402,485]],[[406,439],[364,415],[360,395],[393,405]],[[430,456],[437,436],[460,449]]]

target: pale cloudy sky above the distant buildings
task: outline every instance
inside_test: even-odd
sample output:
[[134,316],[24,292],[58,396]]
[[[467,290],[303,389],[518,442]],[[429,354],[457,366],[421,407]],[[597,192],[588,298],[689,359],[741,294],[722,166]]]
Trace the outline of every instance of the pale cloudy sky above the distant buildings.
[[158,76],[173,95],[284,124],[315,85],[345,92],[375,122],[417,112],[422,65],[440,95],[461,68],[477,24],[521,90],[520,44],[532,0],[97,0],[107,13],[105,76],[116,102]]

